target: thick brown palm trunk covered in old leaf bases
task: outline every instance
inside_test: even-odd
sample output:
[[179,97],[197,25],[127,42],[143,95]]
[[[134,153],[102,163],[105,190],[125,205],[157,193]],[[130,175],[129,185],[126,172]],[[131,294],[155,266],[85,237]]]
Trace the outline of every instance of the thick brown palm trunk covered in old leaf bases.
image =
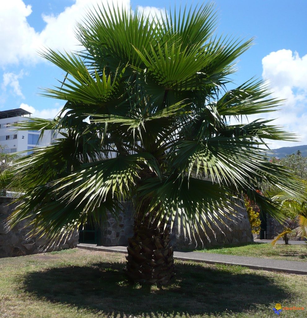
[[[160,226],[163,229],[163,225]],[[134,235],[128,239],[126,274],[134,282],[166,285],[174,275],[173,247],[170,230],[162,232],[157,222],[142,215],[134,219]]]

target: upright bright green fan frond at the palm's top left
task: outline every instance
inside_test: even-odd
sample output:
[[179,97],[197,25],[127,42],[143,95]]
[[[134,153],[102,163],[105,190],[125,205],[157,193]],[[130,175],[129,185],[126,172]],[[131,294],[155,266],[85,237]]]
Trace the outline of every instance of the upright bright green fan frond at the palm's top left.
[[111,72],[123,61],[142,67],[133,45],[139,49],[149,48],[152,42],[160,40],[159,23],[144,12],[105,6],[88,11],[83,22],[78,24],[76,36],[88,52],[84,57],[92,67],[108,66]]

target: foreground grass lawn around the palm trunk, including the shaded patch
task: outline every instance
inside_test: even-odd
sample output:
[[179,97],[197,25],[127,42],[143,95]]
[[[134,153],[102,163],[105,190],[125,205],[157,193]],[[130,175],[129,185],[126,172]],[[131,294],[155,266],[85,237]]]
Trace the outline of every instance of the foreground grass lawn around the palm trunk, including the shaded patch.
[[[167,287],[129,284],[123,254],[82,249],[0,259],[0,317],[276,317],[307,307],[307,276],[176,261]],[[283,311],[283,317],[306,317]]]

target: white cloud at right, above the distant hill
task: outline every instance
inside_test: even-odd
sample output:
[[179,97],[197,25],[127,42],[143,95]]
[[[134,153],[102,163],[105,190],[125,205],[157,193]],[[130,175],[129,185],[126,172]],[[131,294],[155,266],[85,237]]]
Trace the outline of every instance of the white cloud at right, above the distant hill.
[[[300,144],[307,144],[307,55],[300,57],[291,50],[271,52],[262,59],[263,79],[273,91],[272,96],[286,99],[279,112],[264,114],[300,137]],[[297,146],[297,142],[272,142],[271,148]]]

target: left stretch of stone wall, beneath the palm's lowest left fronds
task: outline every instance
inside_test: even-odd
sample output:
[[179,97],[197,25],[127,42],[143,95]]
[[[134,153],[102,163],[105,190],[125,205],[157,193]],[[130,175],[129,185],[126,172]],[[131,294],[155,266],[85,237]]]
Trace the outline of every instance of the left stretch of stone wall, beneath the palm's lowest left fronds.
[[0,257],[20,256],[41,252],[59,251],[66,248],[76,247],[79,233],[76,231],[71,237],[60,244],[50,246],[46,250],[48,241],[44,238],[34,237],[25,239],[28,228],[24,228],[26,221],[20,222],[12,230],[8,231],[4,220],[10,215],[16,204],[8,205],[14,198],[0,197]]

